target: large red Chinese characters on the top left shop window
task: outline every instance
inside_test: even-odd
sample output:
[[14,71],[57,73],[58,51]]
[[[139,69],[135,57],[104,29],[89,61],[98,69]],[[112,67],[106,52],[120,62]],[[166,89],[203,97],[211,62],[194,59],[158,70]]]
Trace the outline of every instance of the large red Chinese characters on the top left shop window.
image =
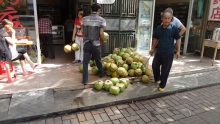
[[18,5],[19,2],[20,0],[13,0],[13,2],[9,0],[0,0],[0,5],[9,5],[3,10],[3,12],[0,13],[0,22],[3,19],[8,19],[13,22],[14,28],[18,28],[21,26],[21,23],[17,21],[17,19],[19,19],[19,16],[16,15],[18,11],[14,9],[14,6]]

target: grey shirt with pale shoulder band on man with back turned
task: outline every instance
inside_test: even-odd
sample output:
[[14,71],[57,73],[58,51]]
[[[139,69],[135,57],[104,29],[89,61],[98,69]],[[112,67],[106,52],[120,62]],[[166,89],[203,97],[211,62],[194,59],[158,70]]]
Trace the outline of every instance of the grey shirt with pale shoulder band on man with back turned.
[[92,13],[82,19],[83,42],[91,41],[94,46],[100,46],[100,28],[106,27],[106,21],[101,16]]

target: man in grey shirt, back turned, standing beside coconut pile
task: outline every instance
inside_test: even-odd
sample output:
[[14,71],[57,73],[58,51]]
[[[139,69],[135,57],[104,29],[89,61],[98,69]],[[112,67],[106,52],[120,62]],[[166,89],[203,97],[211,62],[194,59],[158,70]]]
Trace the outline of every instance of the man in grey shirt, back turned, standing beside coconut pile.
[[104,76],[101,61],[101,44],[104,42],[104,28],[106,27],[106,21],[97,14],[101,9],[99,4],[93,4],[91,9],[92,13],[83,18],[81,26],[84,42],[82,76],[84,84],[88,83],[88,64],[91,56],[95,59],[96,65],[99,69],[99,77]]

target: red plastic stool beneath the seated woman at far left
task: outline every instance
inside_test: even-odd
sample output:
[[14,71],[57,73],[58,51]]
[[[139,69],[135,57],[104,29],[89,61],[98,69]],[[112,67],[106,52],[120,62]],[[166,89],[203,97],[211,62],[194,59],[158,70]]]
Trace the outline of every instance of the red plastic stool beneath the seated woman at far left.
[[12,78],[16,78],[16,72],[13,62],[0,61],[0,75],[6,73],[7,82],[11,83]]

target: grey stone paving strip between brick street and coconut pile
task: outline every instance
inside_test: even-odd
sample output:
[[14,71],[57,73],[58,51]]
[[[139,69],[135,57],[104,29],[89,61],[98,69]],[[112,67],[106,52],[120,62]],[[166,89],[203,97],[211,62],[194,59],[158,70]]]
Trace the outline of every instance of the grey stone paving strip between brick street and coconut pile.
[[16,93],[12,97],[0,99],[0,123],[50,117],[217,85],[220,83],[219,75],[220,71],[215,70],[170,77],[163,93],[159,92],[157,84],[153,83],[133,83],[117,96],[106,91],[95,91],[92,88],[84,90],[49,89]]

